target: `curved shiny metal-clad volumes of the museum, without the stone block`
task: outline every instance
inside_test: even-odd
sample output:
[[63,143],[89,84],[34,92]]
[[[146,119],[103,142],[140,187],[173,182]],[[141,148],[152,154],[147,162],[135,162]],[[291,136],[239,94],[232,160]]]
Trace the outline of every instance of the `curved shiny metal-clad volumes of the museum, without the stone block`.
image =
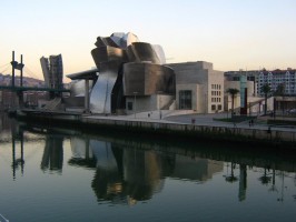
[[160,46],[139,42],[132,33],[98,37],[91,56],[99,78],[90,92],[90,111],[114,113],[126,109],[126,98],[139,92],[152,95],[175,93],[172,69],[161,65],[165,53]]

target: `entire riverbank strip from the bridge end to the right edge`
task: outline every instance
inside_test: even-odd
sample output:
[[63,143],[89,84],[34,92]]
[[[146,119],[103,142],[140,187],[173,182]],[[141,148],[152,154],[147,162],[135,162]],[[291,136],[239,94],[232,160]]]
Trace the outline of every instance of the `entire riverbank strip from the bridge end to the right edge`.
[[90,132],[132,133],[135,137],[152,137],[164,140],[215,140],[239,144],[266,145],[276,149],[296,149],[296,129],[249,122],[231,123],[215,121],[223,114],[165,115],[95,115],[75,112],[18,111],[17,118],[42,122],[48,125],[62,125],[85,129]]

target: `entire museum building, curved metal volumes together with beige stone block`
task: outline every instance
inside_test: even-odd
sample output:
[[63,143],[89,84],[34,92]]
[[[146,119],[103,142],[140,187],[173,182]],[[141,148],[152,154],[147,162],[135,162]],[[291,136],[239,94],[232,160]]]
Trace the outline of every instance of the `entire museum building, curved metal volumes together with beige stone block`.
[[224,110],[224,73],[214,70],[213,63],[166,64],[160,46],[139,42],[132,33],[98,37],[95,44],[91,56],[98,78],[80,78],[93,80],[89,95],[91,112],[131,114],[181,109],[214,113]]

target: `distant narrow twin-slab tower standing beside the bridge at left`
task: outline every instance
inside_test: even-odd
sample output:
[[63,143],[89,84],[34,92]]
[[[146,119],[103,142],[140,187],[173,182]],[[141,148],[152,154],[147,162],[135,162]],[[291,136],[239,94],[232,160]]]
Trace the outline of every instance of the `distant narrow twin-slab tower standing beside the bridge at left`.
[[50,56],[49,59],[42,57],[40,59],[46,87],[52,89],[61,89],[62,88],[62,59],[61,54]]

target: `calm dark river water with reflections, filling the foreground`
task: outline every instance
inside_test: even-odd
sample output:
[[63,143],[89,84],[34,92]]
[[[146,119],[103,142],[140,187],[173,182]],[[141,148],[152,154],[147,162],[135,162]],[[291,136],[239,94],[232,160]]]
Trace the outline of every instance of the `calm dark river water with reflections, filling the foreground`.
[[0,221],[295,221],[295,154],[0,121]]

